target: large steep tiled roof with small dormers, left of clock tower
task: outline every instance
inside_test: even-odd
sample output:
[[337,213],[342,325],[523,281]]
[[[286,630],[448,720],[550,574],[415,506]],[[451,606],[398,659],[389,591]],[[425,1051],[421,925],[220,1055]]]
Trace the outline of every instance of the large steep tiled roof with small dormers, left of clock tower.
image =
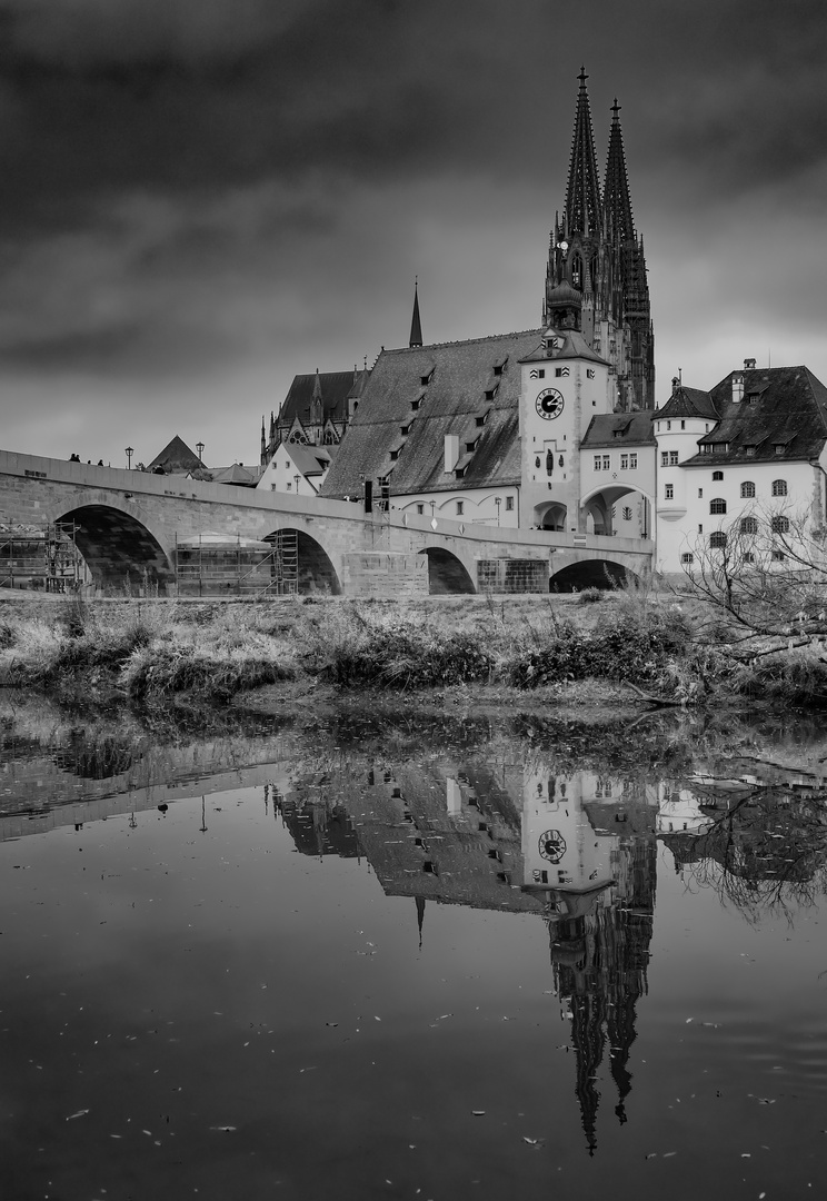
[[[443,470],[448,434],[459,438],[461,462],[468,455],[461,486],[517,484],[519,363],[537,349],[540,336],[541,330],[532,329],[383,351],[322,495],[352,496],[360,489],[360,477],[386,474],[396,496],[455,489],[455,473]],[[469,442],[473,453],[467,450]]]

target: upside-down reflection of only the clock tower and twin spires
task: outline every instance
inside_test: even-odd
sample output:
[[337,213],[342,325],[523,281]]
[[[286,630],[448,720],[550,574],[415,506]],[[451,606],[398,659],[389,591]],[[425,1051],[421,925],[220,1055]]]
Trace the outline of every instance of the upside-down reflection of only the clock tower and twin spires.
[[627,1121],[629,1052],[637,999],[647,991],[657,847],[646,799],[623,796],[589,772],[527,770],[526,888],[543,892],[557,994],[568,1002],[576,1094],[589,1154],[597,1148],[597,1078],[609,1046],[615,1113]]

